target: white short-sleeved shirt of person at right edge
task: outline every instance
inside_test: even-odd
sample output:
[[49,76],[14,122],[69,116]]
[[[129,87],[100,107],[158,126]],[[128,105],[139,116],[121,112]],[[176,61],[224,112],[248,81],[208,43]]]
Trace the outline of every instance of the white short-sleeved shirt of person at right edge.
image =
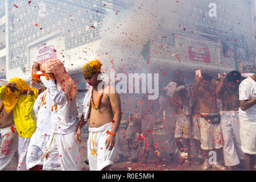
[[[239,100],[251,100],[256,97],[256,81],[251,77],[243,80],[239,86]],[[243,111],[239,108],[240,122],[256,125],[256,104]]]

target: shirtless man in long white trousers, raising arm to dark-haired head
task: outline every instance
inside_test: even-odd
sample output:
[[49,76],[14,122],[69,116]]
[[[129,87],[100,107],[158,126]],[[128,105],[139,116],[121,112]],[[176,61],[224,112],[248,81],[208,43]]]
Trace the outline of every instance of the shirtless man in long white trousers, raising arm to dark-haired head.
[[222,74],[215,90],[218,98],[222,101],[220,117],[225,166],[230,166],[232,169],[236,169],[238,164],[240,164],[239,167],[243,167],[241,164],[244,163],[238,118],[240,80],[241,74],[238,71],[232,71],[227,75]]

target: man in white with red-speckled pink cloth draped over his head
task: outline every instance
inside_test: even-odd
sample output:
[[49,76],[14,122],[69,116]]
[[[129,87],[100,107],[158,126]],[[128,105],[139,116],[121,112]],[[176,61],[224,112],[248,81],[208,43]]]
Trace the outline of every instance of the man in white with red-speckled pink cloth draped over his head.
[[[38,70],[34,72],[38,73],[39,68],[36,68]],[[60,60],[47,60],[42,63],[41,68],[48,77],[48,80],[44,80],[44,85],[48,85],[49,99],[53,104],[52,135],[47,144],[47,152],[43,155],[43,170],[81,170],[80,146],[75,140],[79,124],[76,82],[68,75]]]

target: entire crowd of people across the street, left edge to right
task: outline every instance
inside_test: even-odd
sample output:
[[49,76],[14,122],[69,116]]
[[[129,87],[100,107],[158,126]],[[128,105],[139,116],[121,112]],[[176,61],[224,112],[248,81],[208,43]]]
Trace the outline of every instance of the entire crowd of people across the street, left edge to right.
[[[82,74],[90,85],[77,110],[76,82],[60,60],[32,65],[30,87],[21,78],[0,80],[0,170],[18,152],[17,170],[81,170],[82,128],[88,122],[87,141],[90,170],[110,170],[118,152],[121,100],[113,86],[98,80],[102,64],[85,64]],[[128,154],[136,150],[132,162],[147,161],[155,150],[155,118],[163,114],[163,128],[170,155],[179,151],[179,163],[191,164],[191,142],[203,169],[236,167],[254,170],[256,154],[256,73],[246,77],[238,71],[196,75],[195,83],[170,82],[154,100],[138,100],[130,110],[126,130]],[[143,102],[143,107],[139,103]],[[156,113],[156,114],[155,114]],[[174,122],[175,121],[175,122]],[[225,166],[220,164],[223,154]],[[119,160],[125,156],[119,154]]]

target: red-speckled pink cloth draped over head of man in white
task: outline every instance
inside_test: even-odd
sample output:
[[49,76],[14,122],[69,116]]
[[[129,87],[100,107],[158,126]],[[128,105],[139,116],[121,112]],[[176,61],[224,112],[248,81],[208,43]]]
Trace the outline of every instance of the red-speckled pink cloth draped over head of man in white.
[[49,59],[42,63],[42,69],[46,73],[53,73],[60,87],[67,94],[69,100],[73,100],[78,92],[76,82],[68,75],[64,64],[57,59]]

